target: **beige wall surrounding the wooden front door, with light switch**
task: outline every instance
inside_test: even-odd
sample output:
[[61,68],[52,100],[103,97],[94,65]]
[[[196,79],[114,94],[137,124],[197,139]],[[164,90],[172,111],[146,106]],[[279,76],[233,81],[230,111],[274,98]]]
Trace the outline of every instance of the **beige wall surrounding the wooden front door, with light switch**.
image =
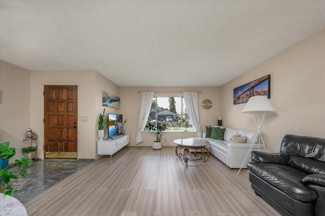
[[[31,71],[30,125],[39,134],[39,157],[44,158],[44,85],[78,85],[78,158],[95,157],[95,73],[96,71]],[[87,116],[88,121],[81,121]]]

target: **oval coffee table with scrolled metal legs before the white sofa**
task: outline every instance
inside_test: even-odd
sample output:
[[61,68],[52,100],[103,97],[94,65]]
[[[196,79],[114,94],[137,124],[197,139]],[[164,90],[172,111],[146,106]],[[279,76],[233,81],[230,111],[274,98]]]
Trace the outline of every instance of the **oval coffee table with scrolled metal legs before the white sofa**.
[[[178,139],[174,140],[174,143],[177,144],[176,146],[176,155],[179,158],[184,159],[185,163],[188,160],[202,160],[203,162],[209,159],[209,150],[206,148],[209,145],[209,141],[203,139]],[[179,150],[184,149],[184,152]],[[191,152],[190,150],[194,150]],[[207,157],[201,156],[198,153],[207,153]],[[191,155],[190,158],[187,156]]]

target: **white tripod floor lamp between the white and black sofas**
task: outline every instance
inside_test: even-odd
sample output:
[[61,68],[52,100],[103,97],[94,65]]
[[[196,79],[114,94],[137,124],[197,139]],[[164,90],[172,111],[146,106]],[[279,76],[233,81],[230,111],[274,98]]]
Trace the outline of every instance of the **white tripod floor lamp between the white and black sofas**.
[[[240,170],[242,169],[242,167],[243,167],[243,165],[244,165],[244,163],[246,161],[246,158],[247,158],[247,156],[248,156],[248,154],[249,154],[249,152],[250,152],[256,138],[258,138],[259,149],[261,150],[261,141],[262,141],[265,152],[267,152],[260,129],[261,129],[263,119],[265,117],[265,113],[271,113],[271,112],[275,112],[275,109],[272,106],[271,102],[268,100],[268,98],[266,96],[263,96],[263,95],[250,97],[247,104],[246,104],[246,106],[244,107],[242,113],[251,113],[252,114],[254,122],[255,122],[255,124],[257,126],[257,132],[256,132],[256,136],[255,136],[255,138],[254,138],[252,144],[250,145],[250,148],[249,148],[249,150],[248,150],[248,152],[246,154],[246,157],[245,157],[242,165],[240,166],[240,169],[239,169],[237,175],[239,174]],[[254,113],[258,114],[257,122],[256,122],[256,119],[254,117]],[[259,115],[262,114],[262,113],[263,113],[263,117],[262,117],[262,120],[260,121]]]

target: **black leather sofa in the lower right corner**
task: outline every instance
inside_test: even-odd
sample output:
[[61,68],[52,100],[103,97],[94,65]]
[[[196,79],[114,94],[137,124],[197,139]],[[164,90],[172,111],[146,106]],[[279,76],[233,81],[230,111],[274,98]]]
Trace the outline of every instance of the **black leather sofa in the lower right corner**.
[[255,194],[284,215],[325,215],[325,139],[285,135],[279,153],[252,152]]

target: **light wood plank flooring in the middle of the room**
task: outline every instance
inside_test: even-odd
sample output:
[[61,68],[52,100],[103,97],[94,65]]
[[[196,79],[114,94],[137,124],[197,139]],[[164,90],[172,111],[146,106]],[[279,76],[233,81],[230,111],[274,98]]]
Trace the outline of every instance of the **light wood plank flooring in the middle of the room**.
[[210,155],[189,161],[175,147],[124,147],[25,204],[32,215],[281,215],[255,195],[248,171]]

